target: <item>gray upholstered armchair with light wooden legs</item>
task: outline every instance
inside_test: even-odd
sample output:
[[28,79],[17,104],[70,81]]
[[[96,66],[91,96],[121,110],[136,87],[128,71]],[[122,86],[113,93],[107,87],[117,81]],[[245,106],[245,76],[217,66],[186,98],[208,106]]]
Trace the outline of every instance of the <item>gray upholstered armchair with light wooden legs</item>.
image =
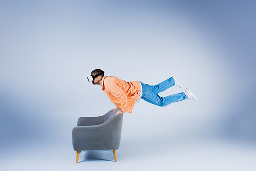
[[81,117],[77,126],[72,130],[72,144],[76,151],[76,163],[78,163],[81,151],[111,149],[115,161],[116,149],[119,148],[121,140],[123,115],[113,110],[98,117]]

